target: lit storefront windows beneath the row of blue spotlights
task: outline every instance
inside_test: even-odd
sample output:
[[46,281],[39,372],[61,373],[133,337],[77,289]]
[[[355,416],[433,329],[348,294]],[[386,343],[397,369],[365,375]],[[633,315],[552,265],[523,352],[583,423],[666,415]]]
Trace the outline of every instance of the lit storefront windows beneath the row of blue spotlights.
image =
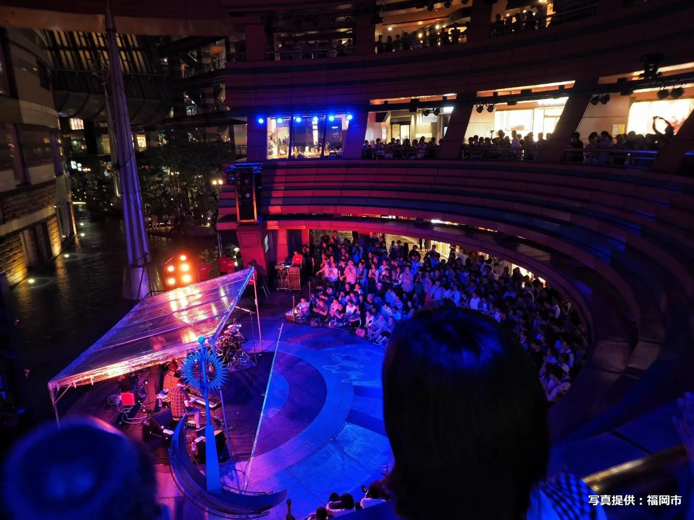
[[[267,118],[268,159],[341,157],[351,114],[294,114]],[[264,118],[258,119],[264,123]]]

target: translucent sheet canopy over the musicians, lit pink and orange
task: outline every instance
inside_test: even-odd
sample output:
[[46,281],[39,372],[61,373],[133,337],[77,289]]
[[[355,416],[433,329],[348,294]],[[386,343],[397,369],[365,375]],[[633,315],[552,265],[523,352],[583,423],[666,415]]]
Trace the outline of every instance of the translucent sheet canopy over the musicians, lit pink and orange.
[[201,281],[139,302],[133,310],[65,370],[49,390],[96,383],[185,356],[198,337],[221,332],[253,268]]

